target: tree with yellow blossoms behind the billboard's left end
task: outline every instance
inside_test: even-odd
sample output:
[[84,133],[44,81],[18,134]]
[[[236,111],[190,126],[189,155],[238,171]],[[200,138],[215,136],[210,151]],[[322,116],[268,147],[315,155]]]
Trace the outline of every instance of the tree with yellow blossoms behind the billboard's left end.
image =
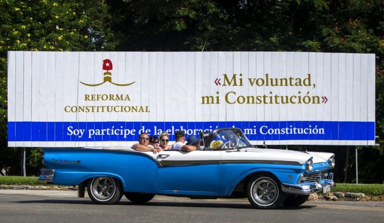
[[[0,169],[20,173],[20,149],[7,148],[7,51],[114,49],[103,1],[0,0]],[[12,157],[12,159],[10,159]],[[39,149],[28,148],[27,174],[38,173]]]

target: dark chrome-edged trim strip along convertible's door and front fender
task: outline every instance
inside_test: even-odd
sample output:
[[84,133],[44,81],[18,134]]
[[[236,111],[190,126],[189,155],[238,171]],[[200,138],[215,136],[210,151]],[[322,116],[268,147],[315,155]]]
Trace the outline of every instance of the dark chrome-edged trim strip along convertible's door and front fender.
[[161,166],[180,166],[180,165],[201,165],[201,164],[289,164],[289,165],[301,165],[294,161],[268,161],[268,160],[161,160],[159,161]]

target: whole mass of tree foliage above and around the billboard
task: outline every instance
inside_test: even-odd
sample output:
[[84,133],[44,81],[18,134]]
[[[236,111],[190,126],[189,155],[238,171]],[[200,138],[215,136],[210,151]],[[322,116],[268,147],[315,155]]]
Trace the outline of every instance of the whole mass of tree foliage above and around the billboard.
[[[384,158],[383,1],[0,0],[0,10],[3,12],[0,14],[2,132],[7,129],[8,50],[375,53],[378,57],[376,135],[379,136],[376,142],[381,146],[360,148],[364,159],[361,162],[369,161],[370,165],[359,166],[363,174],[380,168]],[[2,134],[0,139],[2,151],[6,151],[6,135]],[[343,173],[346,147],[306,148],[335,152],[339,166],[335,171]],[[370,153],[377,159],[370,160],[367,155]],[[352,152],[349,157],[354,159]],[[3,160],[0,157],[0,168]],[[353,170],[352,166],[349,168]],[[382,174],[375,177],[365,181],[384,181]]]

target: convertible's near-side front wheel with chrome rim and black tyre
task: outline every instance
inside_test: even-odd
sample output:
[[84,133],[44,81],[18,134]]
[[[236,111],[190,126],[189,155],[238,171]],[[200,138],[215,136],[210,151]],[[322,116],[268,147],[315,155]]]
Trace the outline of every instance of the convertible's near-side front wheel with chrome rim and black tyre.
[[255,208],[271,209],[280,207],[285,199],[280,182],[270,174],[258,174],[248,182],[247,196]]

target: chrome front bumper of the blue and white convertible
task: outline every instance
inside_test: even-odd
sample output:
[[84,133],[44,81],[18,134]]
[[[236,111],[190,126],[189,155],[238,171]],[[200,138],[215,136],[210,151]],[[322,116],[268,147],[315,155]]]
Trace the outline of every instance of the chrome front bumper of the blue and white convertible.
[[326,186],[334,187],[335,182],[330,179],[323,179],[320,183],[313,182],[308,184],[281,184],[281,189],[285,193],[307,195],[317,191],[322,191]]

